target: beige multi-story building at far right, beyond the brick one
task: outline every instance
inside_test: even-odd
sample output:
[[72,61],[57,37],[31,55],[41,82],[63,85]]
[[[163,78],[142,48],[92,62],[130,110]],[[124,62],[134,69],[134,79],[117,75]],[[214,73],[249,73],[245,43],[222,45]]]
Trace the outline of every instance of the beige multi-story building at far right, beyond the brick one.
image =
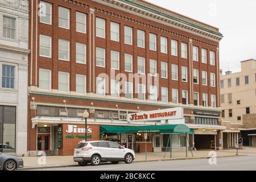
[[[239,138],[244,146],[256,140],[256,60],[241,61],[241,72],[220,76],[224,148],[236,147]],[[253,119],[254,118],[254,119]]]

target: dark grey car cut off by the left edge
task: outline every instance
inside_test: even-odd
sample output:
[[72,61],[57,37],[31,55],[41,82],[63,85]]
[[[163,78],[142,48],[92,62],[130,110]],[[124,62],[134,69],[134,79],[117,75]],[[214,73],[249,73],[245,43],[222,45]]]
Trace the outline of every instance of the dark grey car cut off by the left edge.
[[8,155],[0,152],[0,170],[14,171],[23,167],[23,160],[16,155]]

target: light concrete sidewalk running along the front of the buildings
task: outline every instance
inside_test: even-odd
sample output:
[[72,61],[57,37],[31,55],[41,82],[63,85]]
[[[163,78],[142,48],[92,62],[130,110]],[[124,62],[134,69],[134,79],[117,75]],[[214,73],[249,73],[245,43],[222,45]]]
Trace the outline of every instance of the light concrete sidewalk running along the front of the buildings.
[[[166,157],[164,158],[165,152],[151,152],[147,153],[147,160],[145,153],[136,153],[134,163],[137,162],[152,162],[159,160],[183,160],[183,159],[204,159],[209,158],[212,154],[209,154],[210,150],[205,151],[193,151],[193,156],[191,151],[188,151],[188,157],[185,156],[185,151],[174,151],[172,152],[172,158],[170,158],[170,152],[166,152]],[[222,150],[215,151],[217,158],[220,157],[230,157],[237,156],[236,150]],[[238,155],[256,155],[256,148],[245,147],[243,150],[238,150]],[[78,166],[77,163],[73,162],[73,156],[36,156],[36,157],[23,157],[24,169],[35,169],[35,168],[51,168],[51,167],[70,167]]]

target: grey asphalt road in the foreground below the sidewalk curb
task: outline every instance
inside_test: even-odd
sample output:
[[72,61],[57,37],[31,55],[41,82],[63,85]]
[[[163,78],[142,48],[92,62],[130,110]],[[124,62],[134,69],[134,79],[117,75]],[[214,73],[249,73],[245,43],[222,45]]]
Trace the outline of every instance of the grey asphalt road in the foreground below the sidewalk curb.
[[38,171],[255,171],[256,155],[236,156],[228,158],[216,158],[216,164],[213,159],[189,159],[189,160],[171,160],[159,162],[139,162],[132,164],[110,164],[104,163],[99,166],[85,167],[61,167],[37,169]]

